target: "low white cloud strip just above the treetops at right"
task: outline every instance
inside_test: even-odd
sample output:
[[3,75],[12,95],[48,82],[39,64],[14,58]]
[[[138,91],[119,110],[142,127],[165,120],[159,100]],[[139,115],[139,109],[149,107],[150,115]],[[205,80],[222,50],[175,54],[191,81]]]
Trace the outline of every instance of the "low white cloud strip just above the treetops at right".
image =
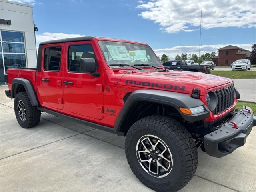
[[[246,49],[246,50],[252,50],[252,44],[232,44],[234,46],[238,46],[240,48]],[[218,54],[217,49],[228,46],[228,44],[217,44],[217,45],[201,45],[200,48],[200,55],[205,53],[211,53],[216,52],[216,55]],[[166,54],[167,56],[170,55],[170,59],[174,59],[176,55],[181,55],[182,53],[187,54],[199,54],[199,46],[175,46],[171,48],[163,48],[163,49],[154,49],[154,52],[157,54],[157,56],[162,56],[163,54]]]

